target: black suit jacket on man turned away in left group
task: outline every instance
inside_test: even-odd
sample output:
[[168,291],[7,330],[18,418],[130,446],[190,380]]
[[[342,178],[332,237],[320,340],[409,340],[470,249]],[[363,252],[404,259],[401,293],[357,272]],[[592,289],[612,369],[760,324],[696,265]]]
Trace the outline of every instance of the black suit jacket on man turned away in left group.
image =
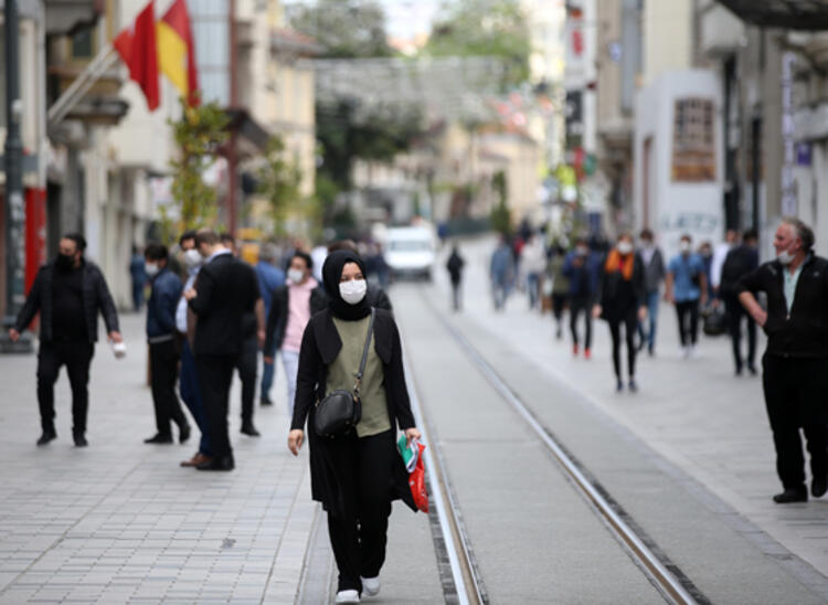
[[195,278],[199,295],[190,300],[198,316],[193,352],[197,355],[237,355],[246,322],[259,298],[253,267],[221,254],[201,267]]

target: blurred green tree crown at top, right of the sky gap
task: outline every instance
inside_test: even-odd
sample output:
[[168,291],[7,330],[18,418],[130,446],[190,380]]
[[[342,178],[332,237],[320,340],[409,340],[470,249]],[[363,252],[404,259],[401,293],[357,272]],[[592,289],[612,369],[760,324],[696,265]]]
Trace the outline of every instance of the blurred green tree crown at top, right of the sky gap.
[[503,60],[501,85],[529,77],[529,25],[518,0],[455,0],[434,23],[425,47],[431,56],[495,56]]

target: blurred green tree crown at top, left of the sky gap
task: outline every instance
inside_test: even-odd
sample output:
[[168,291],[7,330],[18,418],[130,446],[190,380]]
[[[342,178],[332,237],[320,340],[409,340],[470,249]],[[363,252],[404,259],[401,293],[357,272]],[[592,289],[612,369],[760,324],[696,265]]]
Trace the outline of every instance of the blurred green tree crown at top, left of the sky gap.
[[385,42],[385,12],[372,0],[318,0],[297,4],[290,25],[325,46],[323,57],[391,56]]

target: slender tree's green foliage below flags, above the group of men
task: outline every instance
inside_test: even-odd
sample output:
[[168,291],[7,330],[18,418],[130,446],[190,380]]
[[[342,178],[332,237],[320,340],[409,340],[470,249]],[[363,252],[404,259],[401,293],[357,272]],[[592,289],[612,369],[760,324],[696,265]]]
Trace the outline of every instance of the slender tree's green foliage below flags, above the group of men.
[[[219,214],[215,188],[204,182],[204,171],[215,161],[219,147],[227,140],[230,118],[215,103],[188,107],[183,98],[181,119],[170,121],[178,155],[172,168],[171,208],[161,208],[166,240],[187,229],[215,226]],[[172,216],[177,215],[173,220]]]

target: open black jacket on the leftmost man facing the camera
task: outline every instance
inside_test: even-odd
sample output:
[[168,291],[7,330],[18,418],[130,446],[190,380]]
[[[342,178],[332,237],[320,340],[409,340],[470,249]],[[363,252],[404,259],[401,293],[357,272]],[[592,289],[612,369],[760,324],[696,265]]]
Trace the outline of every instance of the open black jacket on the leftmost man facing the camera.
[[[83,270],[83,319],[86,322],[86,335],[89,342],[95,342],[98,339],[98,312],[104,316],[106,331],[112,332],[119,331],[118,311],[115,309],[115,302],[109,294],[109,288],[106,286],[104,274],[100,273],[97,265],[85,258],[82,258],[81,263]],[[22,332],[40,311],[40,339],[46,342],[52,340],[52,284],[55,270],[57,269],[54,263],[49,263],[40,268],[14,323],[14,329]]]

